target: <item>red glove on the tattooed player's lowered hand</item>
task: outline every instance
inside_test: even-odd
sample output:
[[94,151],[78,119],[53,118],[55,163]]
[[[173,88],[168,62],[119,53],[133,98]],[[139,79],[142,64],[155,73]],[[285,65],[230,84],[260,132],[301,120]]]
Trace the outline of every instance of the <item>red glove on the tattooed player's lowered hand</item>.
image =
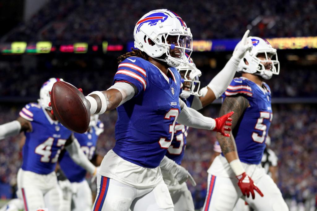
[[236,178],[239,180],[238,186],[244,196],[246,195],[249,197],[251,192],[252,199],[255,199],[256,196],[254,194],[254,190],[256,190],[256,192],[258,192],[263,197],[261,190],[256,187],[256,184],[254,184],[251,177],[249,177],[245,172],[239,176],[236,176]]

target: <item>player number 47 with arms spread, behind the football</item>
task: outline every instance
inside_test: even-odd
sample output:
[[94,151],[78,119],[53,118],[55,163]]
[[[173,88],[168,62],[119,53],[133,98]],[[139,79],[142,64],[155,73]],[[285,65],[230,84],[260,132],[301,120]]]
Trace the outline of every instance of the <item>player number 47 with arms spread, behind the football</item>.
[[18,195],[24,208],[60,210],[61,189],[58,186],[55,165],[65,148],[70,157],[91,174],[95,166],[80,150],[72,132],[55,120],[49,107],[53,84],[60,79],[50,78],[40,90],[38,103],[29,103],[20,111],[15,121],[0,125],[0,139],[24,132],[23,164],[17,174]]

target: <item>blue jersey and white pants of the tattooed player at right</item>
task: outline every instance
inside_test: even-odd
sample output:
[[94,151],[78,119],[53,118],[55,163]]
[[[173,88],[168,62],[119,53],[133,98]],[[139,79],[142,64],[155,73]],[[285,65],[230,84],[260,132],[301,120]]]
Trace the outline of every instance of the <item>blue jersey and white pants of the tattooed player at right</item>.
[[256,183],[264,197],[258,193],[254,200],[252,197],[243,196],[237,185],[236,175],[221,154],[214,159],[207,171],[208,189],[202,210],[231,211],[239,198],[247,201],[256,210],[287,210],[281,191],[261,166],[265,139],[273,117],[270,88],[264,82],[261,87],[244,77],[234,78],[222,97],[225,99],[238,95],[248,99],[249,107],[240,117],[232,134],[246,174]]

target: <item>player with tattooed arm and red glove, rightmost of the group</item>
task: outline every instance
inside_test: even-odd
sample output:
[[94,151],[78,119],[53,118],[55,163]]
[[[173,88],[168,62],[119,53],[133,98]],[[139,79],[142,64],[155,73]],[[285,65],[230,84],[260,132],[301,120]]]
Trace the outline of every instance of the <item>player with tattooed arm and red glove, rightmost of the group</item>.
[[288,210],[280,190],[261,166],[272,120],[270,88],[263,80],[279,74],[279,61],[276,49],[266,40],[250,38],[253,48],[238,68],[242,77],[232,80],[223,94],[220,114],[235,112],[233,131],[230,137],[217,135],[223,155],[208,169],[204,211],[232,210],[240,197],[256,210]]

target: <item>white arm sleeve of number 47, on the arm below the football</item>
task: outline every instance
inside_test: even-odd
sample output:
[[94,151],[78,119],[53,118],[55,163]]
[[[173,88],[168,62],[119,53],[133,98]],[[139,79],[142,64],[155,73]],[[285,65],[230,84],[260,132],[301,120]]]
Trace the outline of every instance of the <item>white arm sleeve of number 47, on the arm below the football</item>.
[[68,146],[65,146],[65,149],[68,151],[69,156],[75,163],[86,169],[91,174],[94,174],[96,167],[88,160],[84,152],[81,150],[78,140],[75,137],[72,137],[72,139],[73,142]]

